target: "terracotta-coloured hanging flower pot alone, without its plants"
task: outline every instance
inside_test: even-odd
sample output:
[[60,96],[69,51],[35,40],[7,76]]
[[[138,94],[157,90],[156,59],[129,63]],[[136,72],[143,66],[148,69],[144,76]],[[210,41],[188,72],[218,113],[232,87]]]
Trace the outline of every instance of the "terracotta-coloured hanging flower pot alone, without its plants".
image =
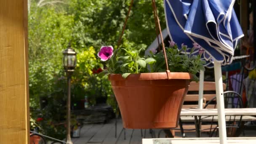
[[109,75],[124,128],[176,128],[191,78],[187,72]]

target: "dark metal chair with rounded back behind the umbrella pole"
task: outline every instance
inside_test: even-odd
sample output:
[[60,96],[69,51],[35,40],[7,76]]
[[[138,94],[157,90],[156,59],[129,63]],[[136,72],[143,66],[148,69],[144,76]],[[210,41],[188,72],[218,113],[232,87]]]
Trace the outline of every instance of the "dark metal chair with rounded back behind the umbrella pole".
[[[224,107],[225,108],[243,108],[243,100],[242,97],[239,93],[235,92],[235,91],[225,91],[223,93],[224,96]],[[205,105],[204,108],[217,108],[216,105],[216,96],[213,97],[213,99],[211,99],[210,101],[208,101],[208,103]],[[214,107],[213,107],[214,106]],[[210,122],[211,125],[215,125],[213,127],[211,127],[210,130],[210,137],[212,136],[217,136],[219,131],[218,131],[218,122],[216,121],[216,116],[214,119],[214,116],[210,116],[212,117],[212,120]],[[204,118],[209,118],[209,117],[202,117],[200,118],[200,121],[203,121]],[[226,128],[227,128],[227,136],[234,136],[237,128],[240,127],[242,121],[242,117],[241,116],[226,116]],[[209,125],[209,122],[207,123]],[[203,125],[203,123],[202,123]],[[203,131],[203,130],[202,130]]]

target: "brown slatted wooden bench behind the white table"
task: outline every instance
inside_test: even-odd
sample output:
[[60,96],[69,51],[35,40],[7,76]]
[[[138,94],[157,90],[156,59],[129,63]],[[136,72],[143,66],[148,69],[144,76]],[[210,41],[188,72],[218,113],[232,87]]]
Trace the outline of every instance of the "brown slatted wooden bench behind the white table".
[[[204,82],[204,95],[203,95],[203,107],[205,106],[206,102],[210,101],[216,96],[216,87],[215,82]],[[226,84],[223,83],[223,89],[226,89]],[[184,97],[184,104],[182,106],[182,109],[191,109],[191,108],[198,108],[198,91],[199,91],[199,82],[191,82],[189,85],[188,94]],[[208,105],[207,108],[216,108],[215,105]],[[194,117],[181,117],[184,132],[188,131],[195,131],[192,129],[195,129],[195,118]],[[184,120],[184,121],[183,121]],[[187,123],[187,125],[186,125]],[[202,129],[210,128],[211,125],[202,125]],[[175,136],[176,132],[180,132],[179,126],[177,129],[171,129],[171,133],[173,136]],[[207,130],[205,130],[207,131]]]

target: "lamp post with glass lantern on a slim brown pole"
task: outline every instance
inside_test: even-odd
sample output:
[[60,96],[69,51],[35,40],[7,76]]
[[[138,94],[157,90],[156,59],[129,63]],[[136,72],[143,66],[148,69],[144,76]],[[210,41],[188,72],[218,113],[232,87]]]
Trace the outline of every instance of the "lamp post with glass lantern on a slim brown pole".
[[62,52],[63,53],[63,66],[67,73],[67,143],[73,144],[71,141],[70,136],[70,101],[71,101],[71,92],[70,92],[70,85],[71,85],[71,75],[75,71],[75,66],[77,64],[77,56],[76,52],[71,48],[70,44],[68,48]]

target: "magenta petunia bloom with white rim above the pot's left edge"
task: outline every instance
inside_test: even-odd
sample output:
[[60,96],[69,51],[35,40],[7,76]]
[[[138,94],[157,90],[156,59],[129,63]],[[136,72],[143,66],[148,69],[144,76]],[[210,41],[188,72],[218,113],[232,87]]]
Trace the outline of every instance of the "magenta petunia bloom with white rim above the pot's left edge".
[[99,50],[99,53],[97,56],[101,58],[101,61],[107,61],[113,56],[113,47],[110,46],[101,46],[101,49]]

